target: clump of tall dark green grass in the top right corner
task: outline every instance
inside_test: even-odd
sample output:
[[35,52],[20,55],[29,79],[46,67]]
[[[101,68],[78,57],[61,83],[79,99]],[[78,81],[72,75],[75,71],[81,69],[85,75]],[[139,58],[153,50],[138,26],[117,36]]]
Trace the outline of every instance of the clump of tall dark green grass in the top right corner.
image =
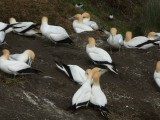
[[140,33],[148,34],[150,31],[160,31],[160,1],[148,0],[140,10],[140,15],[136,20],[137,29]]

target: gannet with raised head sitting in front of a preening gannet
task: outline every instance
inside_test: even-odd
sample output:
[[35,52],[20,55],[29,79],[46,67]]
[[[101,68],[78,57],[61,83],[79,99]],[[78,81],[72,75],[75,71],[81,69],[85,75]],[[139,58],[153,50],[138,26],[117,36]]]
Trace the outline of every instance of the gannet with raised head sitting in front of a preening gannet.
[[4,49],[3,55],[0,57],[0,70],[8,73],[16,75],[24,75],[24,74],[38,74],[40,71],[31,68],[28,64],[21,61],[10,61],[8,57],[10,55],[9,50]]

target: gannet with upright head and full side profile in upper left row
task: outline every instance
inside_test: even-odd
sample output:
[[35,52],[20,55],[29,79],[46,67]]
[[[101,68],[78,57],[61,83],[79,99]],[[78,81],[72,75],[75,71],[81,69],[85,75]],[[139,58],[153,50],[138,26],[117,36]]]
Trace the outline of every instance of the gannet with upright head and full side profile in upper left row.
[[54,26],[48,25],[48,18],[42,17],[42,23],[40,30],[42,34],[51,40],[52,42],[56,43],[69,43],[72,44],[73,41],[69,37],[68,33],[64,28],[61,26]]

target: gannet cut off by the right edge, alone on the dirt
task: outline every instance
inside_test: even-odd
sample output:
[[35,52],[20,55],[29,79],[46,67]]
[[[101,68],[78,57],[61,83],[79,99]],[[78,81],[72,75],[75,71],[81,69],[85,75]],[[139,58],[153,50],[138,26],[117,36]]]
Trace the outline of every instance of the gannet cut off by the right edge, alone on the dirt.
[[160,87],[160,61],[157,62],[153,77],[158,87]]

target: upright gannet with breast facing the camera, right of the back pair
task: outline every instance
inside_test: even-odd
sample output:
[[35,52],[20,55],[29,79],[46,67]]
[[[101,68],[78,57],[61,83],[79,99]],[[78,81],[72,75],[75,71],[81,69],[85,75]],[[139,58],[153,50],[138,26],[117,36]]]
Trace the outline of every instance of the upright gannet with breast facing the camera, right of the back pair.
[[123,37],[121,34],[117,34],[116,28],[111,28],[110,29],[110,36],[107,39],[107,42],[112,47],[120,49],[120,47],[123,45]]

